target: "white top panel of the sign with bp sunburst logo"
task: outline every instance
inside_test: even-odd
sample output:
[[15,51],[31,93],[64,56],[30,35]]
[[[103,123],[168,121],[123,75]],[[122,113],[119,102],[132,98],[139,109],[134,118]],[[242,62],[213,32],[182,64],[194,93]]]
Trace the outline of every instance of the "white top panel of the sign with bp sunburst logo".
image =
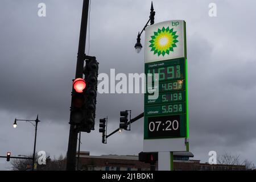
[[184,20],[170,20],[145,30],[145,63],[185,57]]

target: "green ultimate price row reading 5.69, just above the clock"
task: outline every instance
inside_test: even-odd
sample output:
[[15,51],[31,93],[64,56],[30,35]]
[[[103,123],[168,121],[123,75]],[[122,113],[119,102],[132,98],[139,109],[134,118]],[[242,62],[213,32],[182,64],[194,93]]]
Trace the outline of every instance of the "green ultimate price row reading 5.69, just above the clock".
[[145,115],[179,114],[185,112],[185,103],[171,103],[162,105],[148,105],[144,107]]

